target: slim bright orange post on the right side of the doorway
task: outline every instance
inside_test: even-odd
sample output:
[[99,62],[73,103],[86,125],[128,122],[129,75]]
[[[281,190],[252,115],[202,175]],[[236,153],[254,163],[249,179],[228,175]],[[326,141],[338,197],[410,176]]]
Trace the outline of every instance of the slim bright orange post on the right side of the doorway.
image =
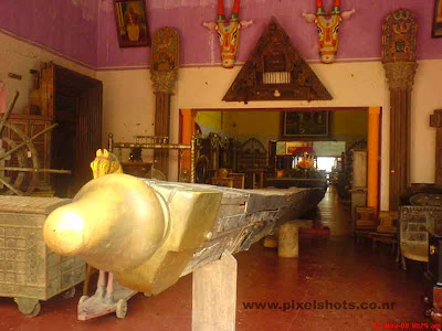
[[367,206],[378,214],[379,205],[379,130],[380,107],[368,109],[368,171],[367,171]]

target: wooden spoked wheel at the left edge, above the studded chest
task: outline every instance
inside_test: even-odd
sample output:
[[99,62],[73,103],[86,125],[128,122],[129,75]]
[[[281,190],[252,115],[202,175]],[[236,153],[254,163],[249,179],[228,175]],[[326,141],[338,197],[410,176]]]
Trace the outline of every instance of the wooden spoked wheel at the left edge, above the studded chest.
[[[27,136],[27,134],[24,134],[17,126],[6,122],[3,124],[3,127],[8,128],[11,132],[19,137],[21,141],[15,142],[7,137],[1,138],[1,140],[4,142],[4,152],[0,154],[0,162],[3,163],[10,160],[11,162],[17,162],[15,166],[18,167],[17,171],[9,170],[8,172],[0,172],[0,184],[6,186],[1,194],[29,195],[35,190],[35,185],[39,179],[38,171],[40,166],[39,158],[36,156],[36,149]],[[9,150],[15,149],[19,145],[23,145],[23,147],[19,148],[12,153],[8,153]],[[28,153],[30,154],[30,160],[28,158]],[[19,168],[32,168],[34,169],[34,171],[24,172],[20,171]],[[10,177],[7,177],[6,173],[8,173]],[[24,182],[25,178],[27,181]]]

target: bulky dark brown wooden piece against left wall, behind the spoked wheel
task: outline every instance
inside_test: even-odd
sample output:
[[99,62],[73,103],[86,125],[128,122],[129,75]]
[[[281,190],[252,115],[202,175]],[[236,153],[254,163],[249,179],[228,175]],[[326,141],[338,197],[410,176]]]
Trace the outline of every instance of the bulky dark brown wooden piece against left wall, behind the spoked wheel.
[[34,145],[41,166],[71,170],[72,174],[41,173],[39,185],[57,196],[71,196],[92,179],[90,162],[102,148],[103,84],[52,62],[31,72],[35,86],[30,105],[10,119],[28,134],[59,125]]

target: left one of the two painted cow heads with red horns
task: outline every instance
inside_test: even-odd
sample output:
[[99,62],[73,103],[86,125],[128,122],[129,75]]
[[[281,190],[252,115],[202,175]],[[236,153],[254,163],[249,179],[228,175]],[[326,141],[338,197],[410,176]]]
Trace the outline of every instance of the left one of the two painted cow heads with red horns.
[[203,25],[209,30],[217,30],[221,45],[221,65],[225,68],[232,68],[240,42],[240,30],[246,29],[253,24],[253,21],[240,22],[240,0],[235,0],[230,21],[225,20],[223,0],[218,0],[218,21],[204,22]]

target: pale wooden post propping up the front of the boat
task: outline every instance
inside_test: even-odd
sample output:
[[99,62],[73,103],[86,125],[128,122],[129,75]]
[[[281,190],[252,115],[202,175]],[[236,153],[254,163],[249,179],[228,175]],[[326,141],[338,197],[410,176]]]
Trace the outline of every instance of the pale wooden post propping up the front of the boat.
[[236,273],[236,259],[228,250],[193,271],[192,331],[235,330]]

